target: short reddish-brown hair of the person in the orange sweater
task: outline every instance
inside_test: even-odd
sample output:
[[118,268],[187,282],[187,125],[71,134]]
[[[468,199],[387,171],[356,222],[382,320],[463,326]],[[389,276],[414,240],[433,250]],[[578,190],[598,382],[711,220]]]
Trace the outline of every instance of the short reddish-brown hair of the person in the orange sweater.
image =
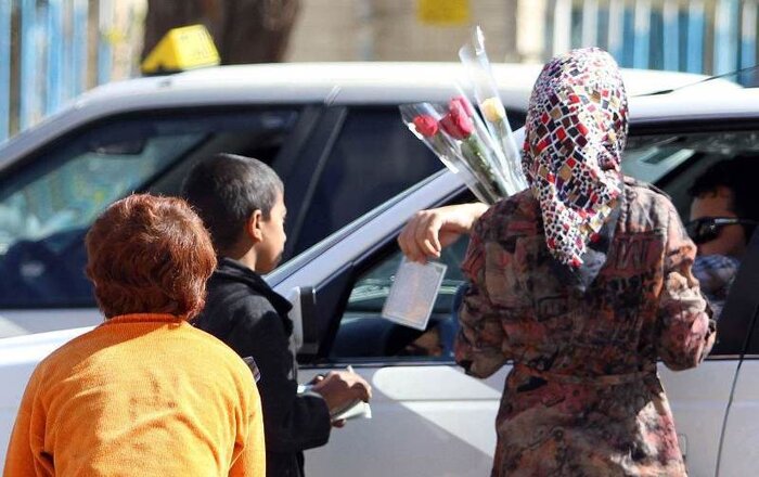
[[123,198],[95,220],[86,244],[87,276],[106,318],[171,313],[189,320],[203,309],[216,255],[184,201]]

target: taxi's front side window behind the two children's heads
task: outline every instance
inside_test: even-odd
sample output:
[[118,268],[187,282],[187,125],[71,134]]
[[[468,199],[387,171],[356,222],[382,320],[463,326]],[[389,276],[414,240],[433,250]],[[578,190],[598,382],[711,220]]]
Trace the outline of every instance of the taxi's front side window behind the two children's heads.
[[[114,201],[217,152],[273,162],[295,111],[124,117],[0,178],[0,307],[92,306],[83,236]],[[162,190],[177,194],[173,189]]]

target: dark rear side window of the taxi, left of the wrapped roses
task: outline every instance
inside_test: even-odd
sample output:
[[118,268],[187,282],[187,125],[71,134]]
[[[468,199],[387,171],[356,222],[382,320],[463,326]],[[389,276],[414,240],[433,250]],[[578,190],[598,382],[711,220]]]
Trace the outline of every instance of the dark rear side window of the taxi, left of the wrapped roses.
[[397,106],[349,108],[316,178],[295,250],[304,250],[442,168]]

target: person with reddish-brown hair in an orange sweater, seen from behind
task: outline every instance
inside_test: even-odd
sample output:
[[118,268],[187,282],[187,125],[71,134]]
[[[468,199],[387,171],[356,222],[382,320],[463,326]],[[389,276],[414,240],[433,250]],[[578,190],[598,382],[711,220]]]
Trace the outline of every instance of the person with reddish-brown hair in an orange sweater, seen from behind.
[[4,476],[263,477],[254,373],[188,323],[216,267],[200,218],[181,199],[131,195],[86,243],[106,320],[33,373]]

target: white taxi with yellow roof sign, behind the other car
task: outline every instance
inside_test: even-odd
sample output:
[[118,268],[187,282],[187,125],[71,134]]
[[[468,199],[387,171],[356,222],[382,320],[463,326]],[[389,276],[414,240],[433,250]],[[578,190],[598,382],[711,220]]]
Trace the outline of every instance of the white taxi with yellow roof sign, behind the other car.
[[[539,72],[494,66],[515,127]],[[623,74],[632,94],[704,78]],[[226,66],[81,95],[0,144],[0,337],[98,323],[82,273],[92,220],[132,191],[176,195],[213,153],[276,170],[290,210],[285,258],[299,254],[442,168],[398,105],[447,101],[462,75],[456,64]]]

